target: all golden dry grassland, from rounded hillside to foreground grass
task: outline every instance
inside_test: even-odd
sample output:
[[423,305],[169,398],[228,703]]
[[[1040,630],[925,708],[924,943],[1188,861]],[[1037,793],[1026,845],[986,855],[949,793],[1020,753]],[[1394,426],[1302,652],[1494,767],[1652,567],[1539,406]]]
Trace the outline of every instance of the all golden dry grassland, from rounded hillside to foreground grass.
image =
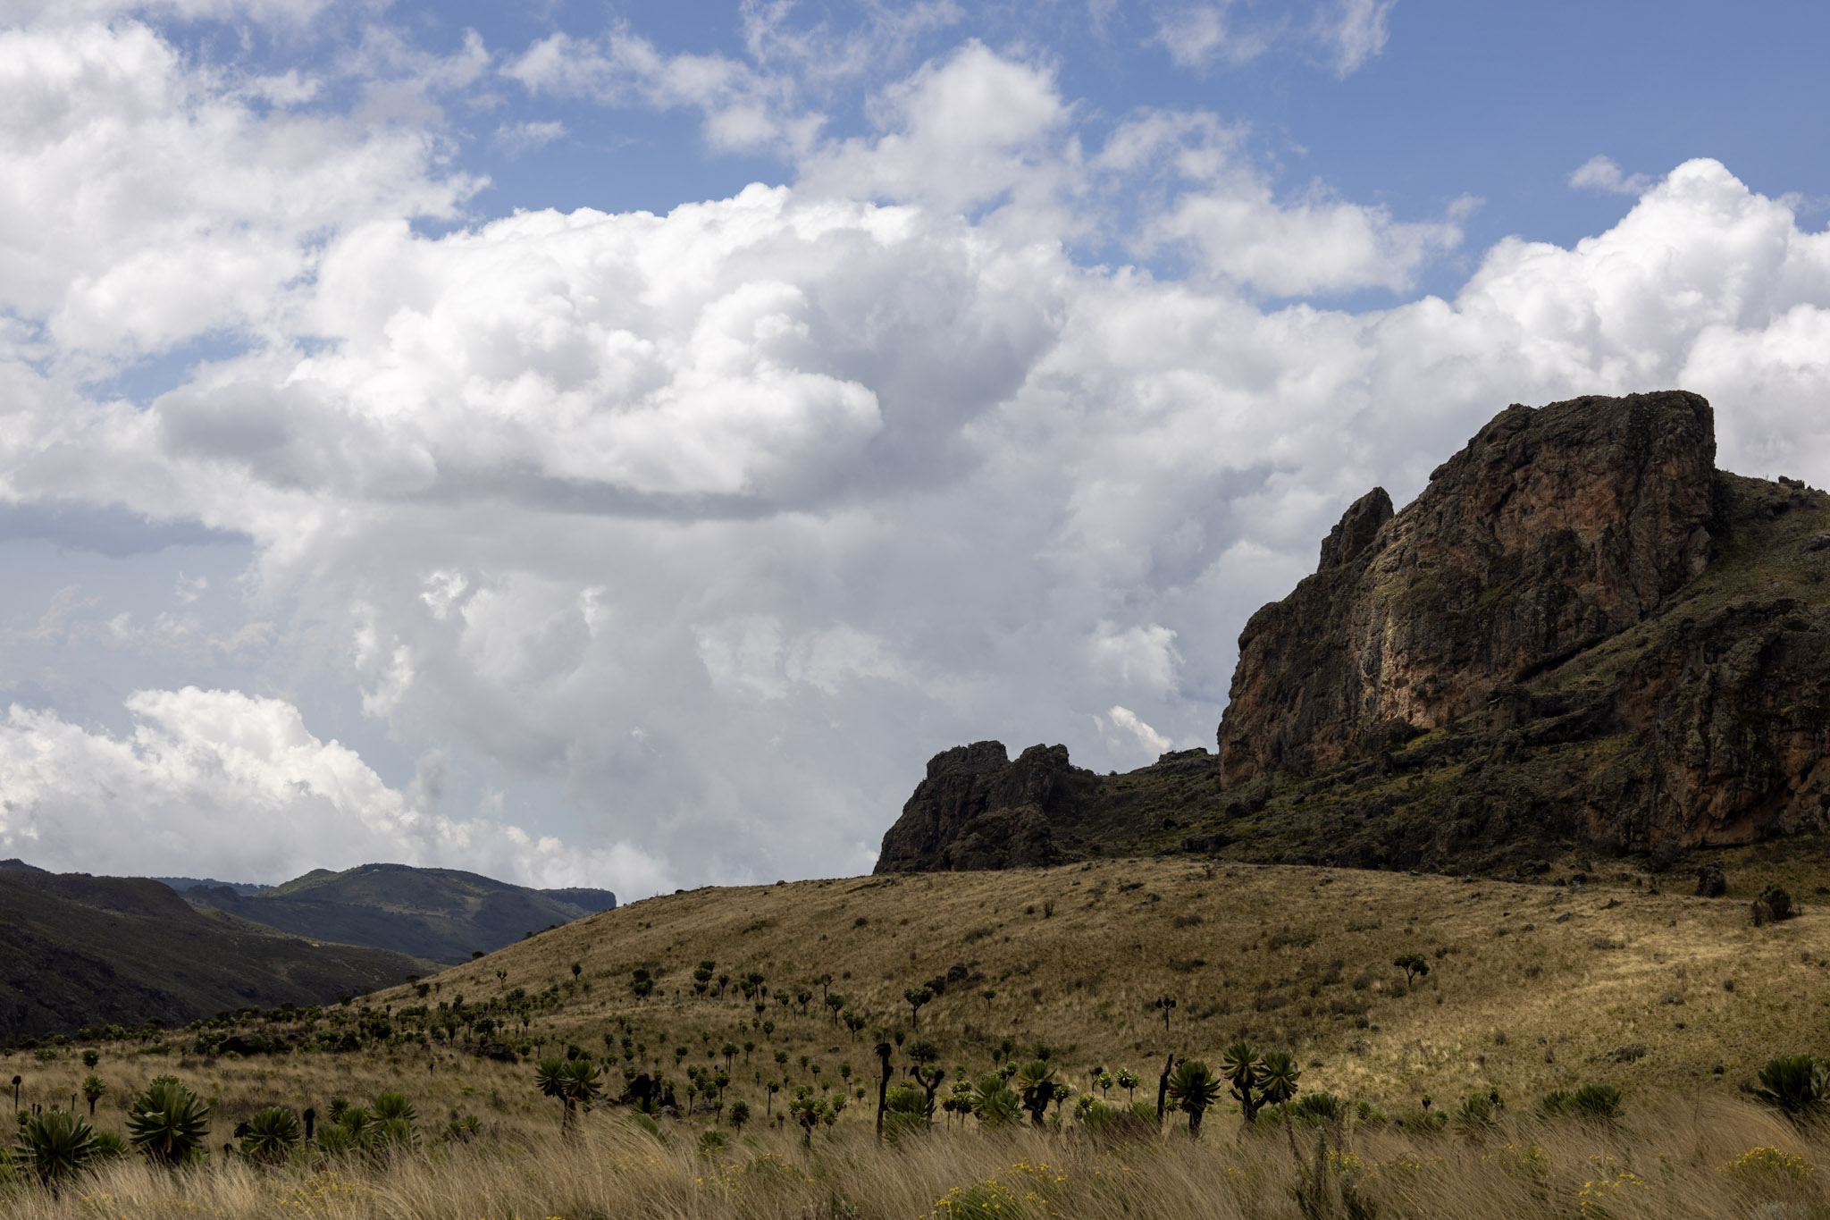
[[[1757,867],[1749,858],[1744,876]],[[1799,865],[1788,858],[1784,867]],[[1799,876],[1799,887],[1810,880]],[[1065,1183],[1030,1182],[1049,1187],[1039,1189],[1047,1209],[1032,1200],[1030,1211],[1001,1215],[1118,1215],[1114,1187],[1100,1178],[1122,1171],[1133,1182],[1125,1191],[1142,1191],[1125,1196],[1138,1207],[1133,1215],[1296,1215],[1288,1141],[1241,1140],[1241,1121],[1224,1108],[1210,1114],[1193,1149],[1171,1121],[1166,1141],[1114,1152],[1074,1130],[1071,1105],[1060,1134],[990,1138],[970,1119],[937,1119],[942,1129],[919,1147],[880,1150],[871,1140],[878,1037],[935,1041],[948,1072],[941,1096],[961,1076],[988,1070],[1008,1039],[1019,1057],[1047,1043],[1076,1092],[1094,1090],[1094,1068],[1131,1066],[1146,1077],[1138,1099],[1149,1101],[1164,1055],[1217,1063],[1228,1043],[1248,1037],[1292,1050],[1303,1090],[1367,1101],[1391,1119],[1418,1112],[1426,1097],[1437,1110],[1488,1090],[1508,1101],[1502,1129],[1479,1138],[1407,1134],[1378,1121],[1340,1132],[1360,1163],[1385,1165],[1372,1172],[1389,1205],[1382,1215],[1585,1215],[1576,1174],[1609,1165],[1652,1185],[1643,1200],[1640,1187],[1618,1187],[1631,1198],[1609,1202],[1607,1215],[1704,1215],[1742,1191],[1740,1178],[1717,1167],[1749,1147],[1779,1147],[1812,1163],[1826,1152],[1819,1136],[1746,1101],[1740,1085],[1775,1054],[1825,1050],[1830,911],[1808,898],[1797,918],[1755,927],[1742,902],[1654,889],[1656,878],[1643,874],[1552,887],[1114,860],[650,898],[428,977],[425,997],[403,986],[324,1013],[315,1024],[353,1028],[362,1008],[392,1019],[392,1037],[370,1037],[348,1054],[187,1055],[179,1035],[165,1039],[165,1054],[141,1054],[139,1043],[99,1048],[95,1070],[110,1085],[97,1110],[104,1129],[123,1129],[126,1099],[157,1072],[176,1072],[214,1101],[218,1145],[264,1105],[313,1105],[324,1114],[333,1096],[362,1101],[401,1090],[419,1107],[434,1156],[320,1167],[342,1174],[335,1180],[342,1185],[326,1185],[333,1180],[309,1176],[304,1163],[264,1178],[218,1152],[216,1169],[181,1187],[124,1165],[86,1193],[113,1194],[121,1215],[156,1215],[145,1200],[159,1196],[198,1209],[187,1215],[221,1216],[919,1216],[953,1187],[997,1174],[1030,1182],[1034,1172],[1010,1165],[1047,1161],[1067,1174]],[[1393,958],[1413,951],[1431,969],[1407,988]],[[716,975],[765,975],[763,1011],[734,984],[719,995],[716,977],[697,995],[692,971],[701,960],[716,962]],[[630,986],[635,969],[657,980],[648,999]],[[917,1028],[904,990],[950,971],[955,982],[920,1010]],[[866,1017],[856,1033],[822,1008],[822,975]],[[403,1019],[403,1010],[425,1004],[436,1013],[459,997],[467,1011],[492,1001],[501,1011],[516,991],[545,1001],[525,1028],[509,1022],[507,1039],[531,1057],[567,1044],[595,1054],[609,1068],[611,1092],[622,1083],[619,1068],[662,1072],[683,1085],[690,1065],[725,1066],[721,1048],[732,1044],[725,1105],[747,1099],[758,1121],[741,1136],[727,1123],[730,1145],[701,1156],[699,1132],[716,1125],[714,1114],[662,1121],[657,1138],[611,1105],[587,1116],[582,1143],[567,1143],[558,1138],[556,1103],[533,1088],[529,1063],[478,1057],[461,1030],[421,1043]],[[805,1011],[803,991],[813,997]],[[1168,1026],[1157,1006],[1164,997],[1177,1001]],[[253,1024],[296,1035],[307,1022]],[[22,1074],[22,1103],[68,1105],[90,1070],[75,1050],[48,1059],[13,1054],[0,1066]],[[900,1074],[900,1052],[897,1065]],[[767,1094],[769,1079],[785,1081],[783,1092]],[[822,1081],[851,1105],[803,1150],[798,1130],[770,1129],[765,1114],[780,1116],[796,1086],[820,1090]],[[1625,1125],[1532,1116],[1545,1092],[1588,1081],[1623,1088]],[[869,1096],[858,1099],[866,1085]],[[479,1138],[436,1140],[448,1119],[467,1114],[481,1119]],[[1535,1156],[1548,1160],[1508,1169],[1508,1145],[1537,1147]],[[1590,1163],[1590,1156],[1616,1160]],[[1404,1169],[1411,1161],[1418,1169]],[[1792,1183],[1788,1200],[1808,1194],[1823,1204],[1810,1194],[1819,1189],[1814,1174],[1775,1172],[1773,1182]],[[1147,1187],[1136,1185],[1144,1180]],[[1449,1180],[1491,1209],[1444,1194]],[[1528,1180],[1537,1185],[1521,1185]],[[1671,1196],[1680,1182],[1682,1205]],[[320,1198],[317,1213],[318,1204],[289,1211],[276,1200],[293,1189],[329,1191],[324,1198],[335,1207]],[[630,1191],[650,1200],[646,1211],[628,1205]],[[432,1202],[441,1193],[463,1204],[441,1211]],[[1426,1194],[1427,1207],[1418,1202]],[[70,1198],[33,1191],[11,1207],[22,1216],[79,1215]]]

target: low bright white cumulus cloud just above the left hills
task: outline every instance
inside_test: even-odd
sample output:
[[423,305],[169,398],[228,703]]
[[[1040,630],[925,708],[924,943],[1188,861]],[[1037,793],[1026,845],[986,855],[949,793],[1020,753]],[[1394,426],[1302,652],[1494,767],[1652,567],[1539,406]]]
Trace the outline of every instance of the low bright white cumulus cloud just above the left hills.
[[194,686],[135,691],[134,730],[88,732],[13,704],[0,721],[0,849],[40,867],[282,880],[315,867],[403,861],[533,885],[655,885],[657,863],[589,852],[426,805],[437,783],[390,788],[353,750],[320,741],[280,699]]

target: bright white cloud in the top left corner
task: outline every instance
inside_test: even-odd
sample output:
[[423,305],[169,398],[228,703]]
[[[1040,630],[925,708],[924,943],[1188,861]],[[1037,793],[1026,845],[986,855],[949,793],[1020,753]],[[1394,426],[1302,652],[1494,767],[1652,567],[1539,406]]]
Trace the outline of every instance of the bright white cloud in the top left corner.
[[448,216],[474,185],[425,130],[260,91],[132,20],[0,29],[0,311],[90,371],[262,327],[326,232]]

